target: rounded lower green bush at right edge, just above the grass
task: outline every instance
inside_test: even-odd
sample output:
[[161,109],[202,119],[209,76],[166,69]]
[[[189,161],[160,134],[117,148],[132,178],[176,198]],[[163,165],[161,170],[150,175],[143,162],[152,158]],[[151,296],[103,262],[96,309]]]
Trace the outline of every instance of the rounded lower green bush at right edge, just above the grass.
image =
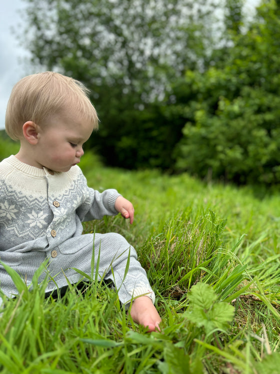
[[202,105],[194,112],[177,148],[179,170],[241,184],[280,182],[280,98],[249,87],[240,93],[231,101],[220,97],[214,115]]

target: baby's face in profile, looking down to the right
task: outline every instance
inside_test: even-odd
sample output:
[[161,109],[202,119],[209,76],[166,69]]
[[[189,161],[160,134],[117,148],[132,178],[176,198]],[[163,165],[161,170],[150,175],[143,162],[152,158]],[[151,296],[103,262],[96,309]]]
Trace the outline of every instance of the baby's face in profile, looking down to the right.
[[57,172],[70,170],[79,163],[92,130],[91,123],[70,111],[51,116],[38,134],[36,162]]

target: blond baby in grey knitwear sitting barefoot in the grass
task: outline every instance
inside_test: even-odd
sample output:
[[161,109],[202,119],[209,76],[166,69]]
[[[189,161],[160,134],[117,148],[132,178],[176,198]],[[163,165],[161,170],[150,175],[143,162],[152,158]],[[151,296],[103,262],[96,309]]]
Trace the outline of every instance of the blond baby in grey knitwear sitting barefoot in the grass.
[[[82,221],[119,212],[132,223],[134,215],[116,190],[89,188],[77,166],[83,144],[98,127],[86,88],[58,73],[27,76],[11,92],[5,127],[20,149],[0,162],[0,260],[29,285],[47,259],[46,292],[66,286],[67,279],[78,282],[81,275],[73,268],[90,275],[93,266],[99,279],[114,282],[120,302],[131,304],[136,323],[159,330],[154,293],[134,248],[116,233],[82,235]],[[17,293],[1,265],[0,287],[7,296]]]

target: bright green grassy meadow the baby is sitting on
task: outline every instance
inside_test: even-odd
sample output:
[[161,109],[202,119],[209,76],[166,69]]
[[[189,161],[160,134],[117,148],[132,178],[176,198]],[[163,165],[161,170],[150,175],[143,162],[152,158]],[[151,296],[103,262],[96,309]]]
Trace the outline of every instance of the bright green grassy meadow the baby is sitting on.
[[[279,372],[280,194],[187,174],[105,168],[90,152],[88,185],[116,188],[135,208],[84,223],[136,248],[156,294],[161,332],[147,333],[94,278],[45,299],[10,269],[19,296],[0,318],[3,373]],[[82,275],[82,274],[81,274]]]

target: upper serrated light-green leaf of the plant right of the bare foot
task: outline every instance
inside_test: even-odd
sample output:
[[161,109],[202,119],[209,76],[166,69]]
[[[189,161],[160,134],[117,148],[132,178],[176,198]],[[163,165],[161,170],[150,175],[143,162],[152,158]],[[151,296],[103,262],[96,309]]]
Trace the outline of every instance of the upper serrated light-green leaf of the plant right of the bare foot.
[[199,282],[191,287],[187,297],[192,305],[199,306],[203,309],[209,309],[212,303],[217,299],[213,288],[206,283]]

